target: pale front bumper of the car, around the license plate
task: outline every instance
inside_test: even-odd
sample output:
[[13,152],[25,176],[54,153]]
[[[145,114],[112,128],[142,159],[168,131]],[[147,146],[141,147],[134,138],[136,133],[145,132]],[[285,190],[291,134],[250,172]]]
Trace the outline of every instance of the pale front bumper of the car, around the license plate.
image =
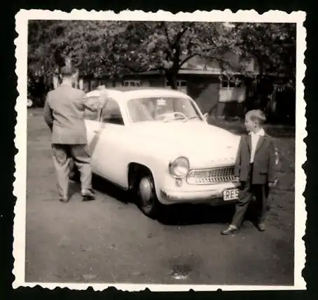
[[227,182],[224,184],[215,184],[207,186],[200,186],[200,190],[183,191],[183,190],[165,190],[160,189],[159,200],[165,205],[175,203],[207,203],[209,205],[223,205],[235,203],[235,200],[223,200],[223,191],[228,189],[238,189],[239,182]]

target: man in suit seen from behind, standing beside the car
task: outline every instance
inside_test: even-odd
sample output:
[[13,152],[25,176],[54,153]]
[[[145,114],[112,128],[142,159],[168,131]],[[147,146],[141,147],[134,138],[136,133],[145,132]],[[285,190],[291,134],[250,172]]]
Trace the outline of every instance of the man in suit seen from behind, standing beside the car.
[[46,97],[44,119],[52,132],[53,161],[57,173],[59,200],[69,202],[69,164],[71,159],[81,172],[81,195],[83,200],[94,200],[92,170],[86,137],[85,108],[97,107],[85,102],[85,93],[72,88],[73,72],[62,68],[60,87],[51,90]]

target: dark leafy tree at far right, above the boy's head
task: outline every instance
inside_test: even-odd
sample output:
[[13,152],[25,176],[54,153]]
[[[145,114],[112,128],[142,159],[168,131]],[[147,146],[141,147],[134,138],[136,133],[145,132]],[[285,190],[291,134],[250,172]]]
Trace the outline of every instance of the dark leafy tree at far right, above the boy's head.
[[[242,59],[253,57],[258,74],[241,69],[253,97],[244,102],[247,109],[268,109],[275,81],[296,90],[296,24],[293,23],[234,23],[232,25],[235,50]],[[292,107],[292,105],[291,105]]]

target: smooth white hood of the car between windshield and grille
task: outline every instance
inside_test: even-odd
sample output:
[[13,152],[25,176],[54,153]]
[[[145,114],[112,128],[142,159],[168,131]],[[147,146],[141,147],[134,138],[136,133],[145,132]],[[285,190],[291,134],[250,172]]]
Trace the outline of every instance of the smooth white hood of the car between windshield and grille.
[[147,122],[133,128],[161,155],[186,156],[193,168],[232,165],[240,142],[239,136],[202,121]]

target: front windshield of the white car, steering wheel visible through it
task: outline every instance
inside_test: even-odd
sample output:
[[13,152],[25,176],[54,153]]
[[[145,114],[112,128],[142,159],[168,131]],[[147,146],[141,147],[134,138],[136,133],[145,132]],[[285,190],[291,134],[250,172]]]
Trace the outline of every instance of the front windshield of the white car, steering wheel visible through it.
[[133,123],[145,121],[202,121],[191,100],[183,97],[147,97],[130,100],[127,109]]

